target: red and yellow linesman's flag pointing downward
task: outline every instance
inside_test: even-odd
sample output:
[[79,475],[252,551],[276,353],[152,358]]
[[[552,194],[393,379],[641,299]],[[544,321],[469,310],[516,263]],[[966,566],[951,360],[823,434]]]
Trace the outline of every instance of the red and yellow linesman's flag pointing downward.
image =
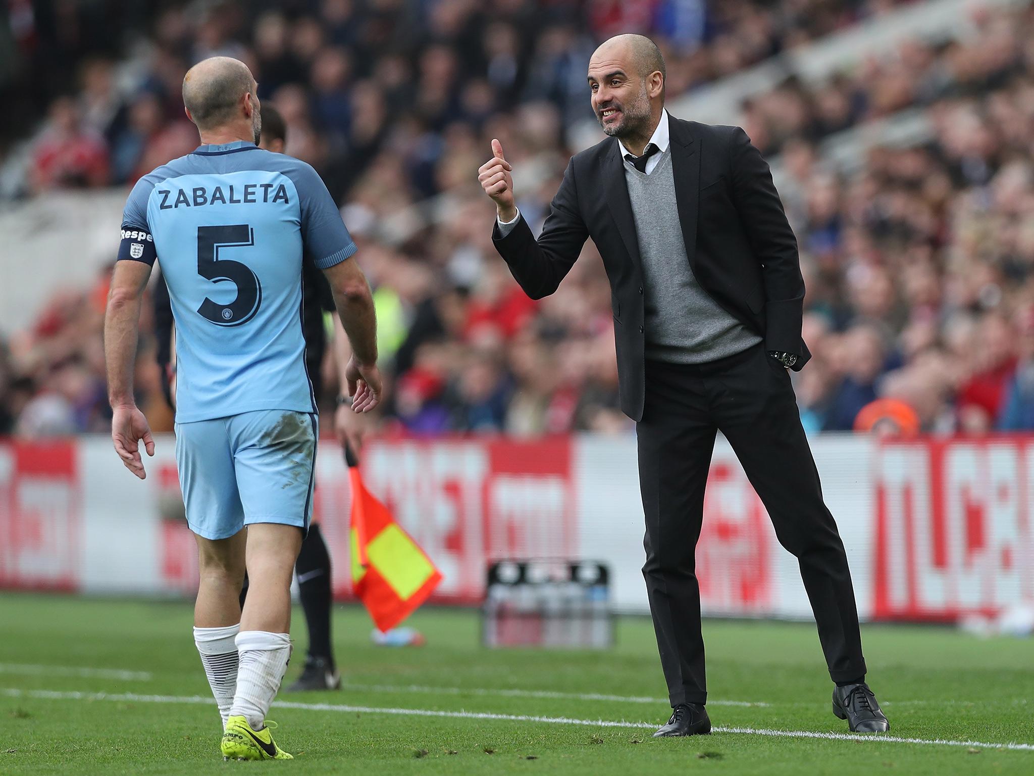
[[442,573],[377,501],[345,449],[352,484],[352,587],[373,624],[391,630],[416,611],[442,581]]

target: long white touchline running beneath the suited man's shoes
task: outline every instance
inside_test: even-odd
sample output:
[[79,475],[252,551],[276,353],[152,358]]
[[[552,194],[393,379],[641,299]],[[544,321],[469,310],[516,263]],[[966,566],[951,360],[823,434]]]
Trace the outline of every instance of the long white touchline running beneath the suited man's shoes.
[[[201,695],[141,695],[134,692],[60,692],[56,690],[21,690],[16,687],[0,688],[0,695],[8,697],[38,697],[49,700],[114,700],[135,704],[195,704],[215,706],[215,700]],[[345,706],[342,704],[301,704],[294,700],[274,700],[279,709],[304,709],[306,711],[345,712],[359,714],[392,714],[403,717],[446,717],[451,719],[489,719],[504,722],[544,722],[546,724],[583,725],[586,727],[633,727],[646,729],[658,727],[656,722],[630,722],[613,719],[576,719],[573,717],[542,717],[531,714],[496,714],[493,712],[442,711],[436,709],[394,709],[373,706]],[[864,736],[856,733],[819,733],[816,730],[777,730],[767,727],[712,727],[713,733],[746,734],[749,736],[771,736],[792,739],[826,739],[830,741],[861,741],[874,744],[921,744],[926,746],[966,746],[982,749],[1012,749],[1034,751],[1034,744],[1003,743],[986,741],[947,741],[944,739],[912,739],[901,736]]]

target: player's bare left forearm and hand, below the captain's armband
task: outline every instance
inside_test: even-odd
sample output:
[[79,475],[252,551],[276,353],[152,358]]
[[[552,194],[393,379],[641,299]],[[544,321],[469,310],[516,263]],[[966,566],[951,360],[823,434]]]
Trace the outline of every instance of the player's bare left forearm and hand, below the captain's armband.
[[133,397],[140,308],[150,276],[150,264],[139,261],[116,263],[104,314],[104,360],[108,364],[108,398],[112,405],[112,442],[126,469],[141,479],[147,476],[140,454],[141,440],[147,454],[154,455],[151,428]]

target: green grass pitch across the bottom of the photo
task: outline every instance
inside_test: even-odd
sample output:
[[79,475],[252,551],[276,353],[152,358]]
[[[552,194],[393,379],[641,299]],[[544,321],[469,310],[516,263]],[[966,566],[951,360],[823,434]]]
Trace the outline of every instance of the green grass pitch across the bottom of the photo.
[[[724,729],[652,740],[669,710],[645,618],[621,620],[605,653],[486,650],[473,611],[410,624],[427,646],[374,647],[365,613],[337,608],[345,687],[283,693],[270,713],[296,759],[223,763],[188,604],[2,594],[0,774],[1034,773],[1030,641],[864,627],[891,736],[916,741],[855,741],[805,737],[847,733],[814,626],[709,621],[708,710]],[[300,611],[295,629],[287,681]]]

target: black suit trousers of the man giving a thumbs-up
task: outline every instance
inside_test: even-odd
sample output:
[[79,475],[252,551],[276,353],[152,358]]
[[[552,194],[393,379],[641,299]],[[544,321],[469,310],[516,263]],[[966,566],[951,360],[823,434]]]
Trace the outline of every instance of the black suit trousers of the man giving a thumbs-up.
[[695,549],[718,430],[780,543],[800,564],[829,676],[840,682],[862,677],[847,555],[822,501],[789,374],[762,345],[707,364],[647,361],[646,406],[636,426],[646,515],[643,576],[672,707],[707,699]]

